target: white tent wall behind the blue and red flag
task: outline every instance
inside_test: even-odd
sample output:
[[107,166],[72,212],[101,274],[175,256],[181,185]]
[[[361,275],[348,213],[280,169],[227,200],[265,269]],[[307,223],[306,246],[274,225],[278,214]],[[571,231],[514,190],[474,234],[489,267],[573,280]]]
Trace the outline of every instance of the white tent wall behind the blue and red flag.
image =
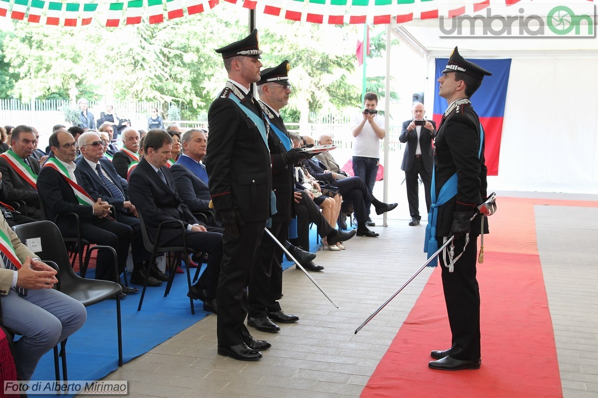
[[[507,52],[475,54],[462,53],[466,58],[509,58]],[[598,53],[510,58],[498,176],[488,178],[489,189],[598,193]],[[429,109],[437,87],[434,64],[432,56],[425,94]],[[475,107],[475,94],[472,102]]]

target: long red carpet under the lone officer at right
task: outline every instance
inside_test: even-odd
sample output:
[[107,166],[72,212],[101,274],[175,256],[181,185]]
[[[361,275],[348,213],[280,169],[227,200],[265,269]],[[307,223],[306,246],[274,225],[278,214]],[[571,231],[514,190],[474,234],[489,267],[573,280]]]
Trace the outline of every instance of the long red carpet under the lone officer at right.
[[598,202],[499,198],[497,203],[490,235],[484,236],[484,263],[478,264],[481,369],[446,372],[428,368],[431,350],[450,347],[440,269],[436,269],[362,398],[563,396],[533,205],[597,207]]

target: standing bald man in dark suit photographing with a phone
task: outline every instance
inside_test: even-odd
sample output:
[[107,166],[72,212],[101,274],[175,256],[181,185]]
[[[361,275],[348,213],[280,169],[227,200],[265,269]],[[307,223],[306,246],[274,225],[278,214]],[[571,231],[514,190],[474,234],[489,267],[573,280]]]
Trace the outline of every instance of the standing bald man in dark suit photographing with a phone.
[[430,211],[430,203],[432,201],[430,197],[432,167],[434,166],[432,140],[436,136],[436,123],[424,119],[423,115],[425,112],[422,103],[414,103],[411,109],[413,119],[403,122],[401,135],[399,135],[399,141],[407,144],[403,153],[401,170],[405,172],[407,201],[409,202],[409,212],[411,214],[409,225],[412,227],[419,225],[419,220],[422,218],[419,215],[419,185],[417,184],[417,174],[422,177],[428,212]]

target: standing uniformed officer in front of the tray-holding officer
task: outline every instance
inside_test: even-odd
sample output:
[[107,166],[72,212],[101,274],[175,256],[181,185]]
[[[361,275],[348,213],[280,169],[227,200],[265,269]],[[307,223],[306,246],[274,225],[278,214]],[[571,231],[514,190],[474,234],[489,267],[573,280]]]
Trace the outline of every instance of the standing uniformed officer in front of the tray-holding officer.
[[208,111],[210,139],[205,158],[209,189],[224,226],[218,280],[218,353],[258,360],[268,341],[255,340],[244,322],[247,286],[257,248],[270,217],[272,174],[269,124],[249,91],[260,80],[258,32],[219,48],[228,81]]

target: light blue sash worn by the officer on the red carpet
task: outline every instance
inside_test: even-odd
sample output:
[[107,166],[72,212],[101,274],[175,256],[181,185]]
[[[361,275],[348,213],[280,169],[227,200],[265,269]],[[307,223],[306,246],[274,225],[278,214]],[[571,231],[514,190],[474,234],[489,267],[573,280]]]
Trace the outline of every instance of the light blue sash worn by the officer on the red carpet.
[[[480,149],[478,150],[478,159],[482,155],[482,144],[484,143],[484,128],[480,123]],[[436,198],[436,162],[432,168],[432,187],[430,196],[432,204],[430,205],[430,212],[428,213],[428,225],[426,226],[426,237],[423,242],[423,252],[428,254],[428,258],[438,251],[438,241],[436,240],[436,222],[438,218],[438,207],[444,205],[451,198],[457,195],[457,173],[451,175],[449,180],[444,183],[443,187]],[[433,260],[429,267],[436,267],[438,260]]]

